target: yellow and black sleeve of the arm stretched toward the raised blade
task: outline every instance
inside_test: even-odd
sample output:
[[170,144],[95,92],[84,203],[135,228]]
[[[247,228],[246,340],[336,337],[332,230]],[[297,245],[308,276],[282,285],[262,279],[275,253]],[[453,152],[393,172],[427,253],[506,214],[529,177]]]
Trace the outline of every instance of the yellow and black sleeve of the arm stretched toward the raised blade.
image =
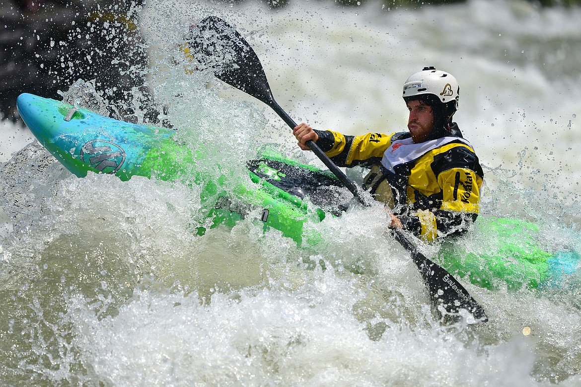
[[377,164],[391,145],[391,135],[381,133],[348,136],[331,130],[315,132],[317,145],[339,167]]

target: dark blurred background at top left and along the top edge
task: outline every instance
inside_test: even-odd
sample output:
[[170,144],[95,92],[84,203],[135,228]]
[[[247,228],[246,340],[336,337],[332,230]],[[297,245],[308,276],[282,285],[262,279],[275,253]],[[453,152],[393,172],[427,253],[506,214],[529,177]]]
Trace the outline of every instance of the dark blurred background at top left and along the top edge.
[[[263,0],[268,8],[284,9],[292,0]],[[218,2],[232,5],[242,1]],[[336,0],[328,5],[356,8],[370,0]],[[420,9],[462,0],[380,0],[383,10]],[[535,7],[568,7],[581,0],[529,0]],[[148,46],[138,28],[144,1],[0,2],[0,117],[16,122],[16,97],[21,92],[55,98],[64,85],[78,78],[94,80],[103,98],[117,107],[125,120],[157,122],[145,87]],[[216,2],[214,2],[216,3]],[[325,2],[320,2],[325,5]],[[379,8],[378,8],[379,9]],[[138,89],[138,93],[136,93]],[[136,95],[141,98],[136,99]],[[130,107],[127,107],[129,105]]]

